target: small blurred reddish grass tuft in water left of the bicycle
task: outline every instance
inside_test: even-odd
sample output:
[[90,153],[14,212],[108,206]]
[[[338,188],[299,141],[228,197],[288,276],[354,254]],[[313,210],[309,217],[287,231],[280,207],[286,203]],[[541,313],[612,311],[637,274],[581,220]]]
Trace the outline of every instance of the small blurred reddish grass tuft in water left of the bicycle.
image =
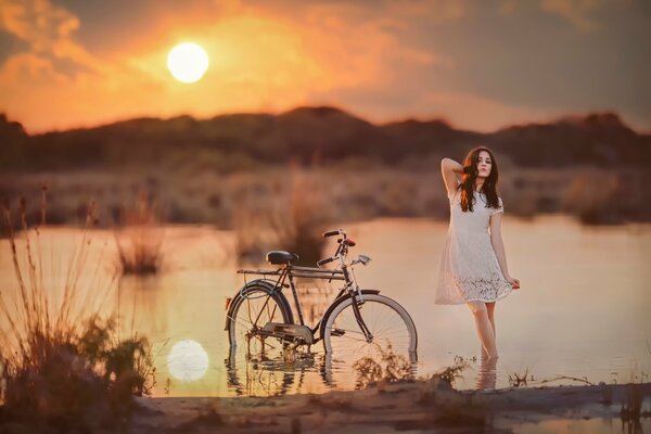
[[133,207],[123,208],[120,226],[114,234],[124,275],[155,275],[161,270],[165,234],[146,195],[141,194]]

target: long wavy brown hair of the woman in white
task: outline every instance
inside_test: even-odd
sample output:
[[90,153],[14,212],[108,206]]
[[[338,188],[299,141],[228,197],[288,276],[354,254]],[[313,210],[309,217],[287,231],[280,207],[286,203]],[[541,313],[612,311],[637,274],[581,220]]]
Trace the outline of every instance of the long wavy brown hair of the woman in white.
[[461,209],[463,212],[472,212],[474,205],[474,184],[477,179],[478,170],[477,163],[480,159],[480,152],[486,151],[490,155],[490,175],[484,180],[481,192],[486,195],[486,206],[489,208],[498,208],[499,201],[497,196],[497,180],[499,179],[499,171],[497,169],[497,162],[493,156],[493,152],[486,146],[478,146],[468,153],[463,159],[463,175],[461,176],[461,183],[459,189],[461,190]]

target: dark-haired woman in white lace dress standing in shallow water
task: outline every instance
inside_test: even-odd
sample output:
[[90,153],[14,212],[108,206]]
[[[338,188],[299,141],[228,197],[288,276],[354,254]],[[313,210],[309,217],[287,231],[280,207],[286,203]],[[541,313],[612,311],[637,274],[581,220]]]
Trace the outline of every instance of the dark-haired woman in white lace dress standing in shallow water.
[[520,288],[509,273],[501,239],[497,163],[487,148],[480,146],[470,151],[463,166],[443,158],[441,170],[450,202],[450,226],[436,303],[465,303],[474,316],[483,358],[497,360],[495,302]]

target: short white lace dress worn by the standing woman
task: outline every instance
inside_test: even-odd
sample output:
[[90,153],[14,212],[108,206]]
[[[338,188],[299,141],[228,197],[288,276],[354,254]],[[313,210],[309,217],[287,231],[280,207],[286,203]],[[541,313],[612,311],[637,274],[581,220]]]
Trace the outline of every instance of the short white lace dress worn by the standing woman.
[[457,305],[468,302],[496,302],[513,290],[499,267],[488,232],[490,216],[503,213],[486,207],[484,193],[474,192],[473,212],[461,209],[461,191],[450,200],[450,226],[441,258],[435,303]]

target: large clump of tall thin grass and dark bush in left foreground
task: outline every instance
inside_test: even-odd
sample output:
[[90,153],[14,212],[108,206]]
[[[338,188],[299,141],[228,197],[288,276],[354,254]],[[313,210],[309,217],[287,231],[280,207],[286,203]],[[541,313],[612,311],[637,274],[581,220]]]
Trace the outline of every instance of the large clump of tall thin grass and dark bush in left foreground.
[[62,279],[41,238],[46,189],[41,227],[27,227],[24,200],[20,234],[7,200],[2,212],[16,284],[0,292],[0,423],[59,432],[118,425],[133,410],[132,394],[153,385],[154,371],[146,340],[118,342],[115,322],[100,316],[117,273],[101,272],[103,248],[91,252],[94,205]]

